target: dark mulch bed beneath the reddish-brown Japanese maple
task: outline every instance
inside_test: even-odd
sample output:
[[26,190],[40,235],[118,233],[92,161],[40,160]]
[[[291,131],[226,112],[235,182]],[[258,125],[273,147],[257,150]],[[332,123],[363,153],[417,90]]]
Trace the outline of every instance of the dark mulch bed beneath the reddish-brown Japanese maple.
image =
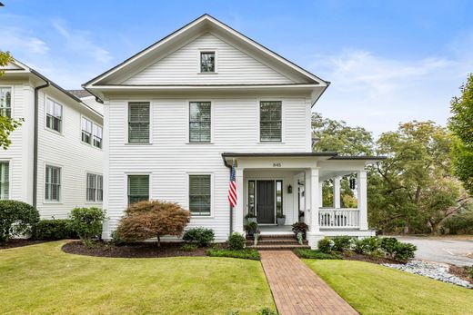
[[63,245],[62,250],[77,255],[116,257],[116,258],[156,258],[156,257],[178,257],[178,256],[206,256],[207,248],[198,248],[195,251],[183,251],[178,242],[156,243],[140,242],[116,246],[111,243],[97,241],[93,247],[86,247],[82,241],[71,241]]

